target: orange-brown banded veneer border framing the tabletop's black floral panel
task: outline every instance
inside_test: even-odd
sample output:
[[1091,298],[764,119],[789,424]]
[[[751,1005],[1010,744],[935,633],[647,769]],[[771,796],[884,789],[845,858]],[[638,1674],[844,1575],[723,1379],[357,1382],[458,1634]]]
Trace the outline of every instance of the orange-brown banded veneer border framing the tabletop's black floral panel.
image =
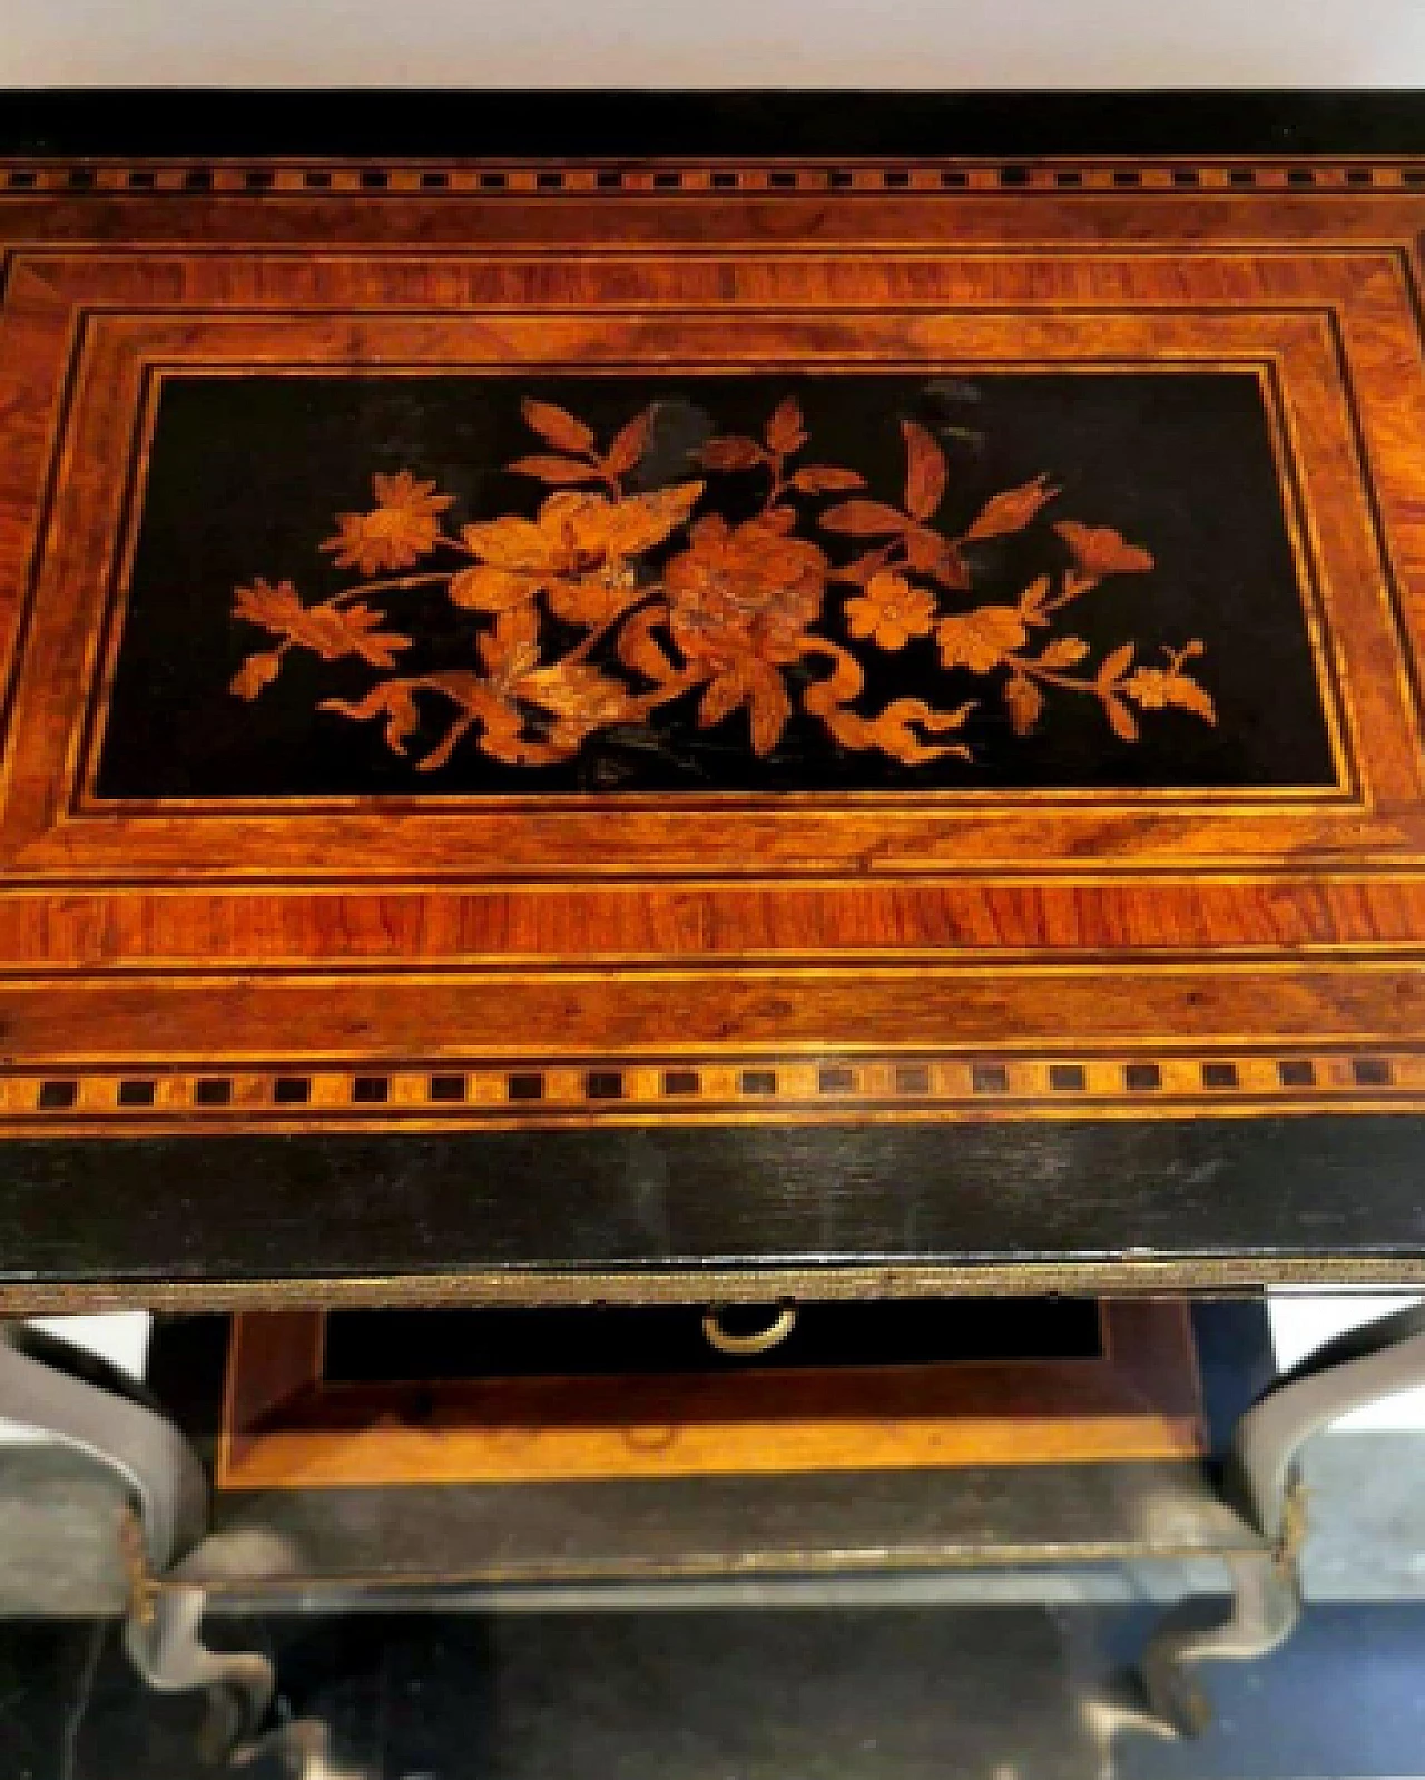
[[[868,1118],[1416,1109],[1416,187],[1421,160],[1352,157],[7,164],[5,577],[36,543],[25,502],[57,475],[39,550],[52,578],[25,639],[44,673],[28,692],[21,675],[32,746],[11,758],[0,883],[5,1130],[680,1120],[685,1105],[820,1120],[847,1096]],[[244,831],[244,813],[85,806],[76,723],[101,653],[57,589],[68,575],[75,596],[101,591],[121,536],[112,472],[160,360],[212,363],[217,344],[237,365],[224,331],[267,329],[269,360],[290,361],[313,328],[366,326],[366,306],[382,313],[356,356],[375,363],[372,329],[409,344],[415,308],[439,326],[543,303],[541,326],[562,308],[571,338],[584,328],[560,360],[580,363],[607,351],[591,342],[614,285],[632,304],[623,351],[649,365],[678,303],[712,329],[761,328],[763,356],[779,326],[785,351],[809,351],[838,304],[843,333],[884,331],[868,347],[884,358],[897,329],[902,356],[907,329],[930,340],[945,310],[989,340],[996,304],[1009,320],[1018,303],[1062,342],[1137,326],[1140,363],[1263,363],[1306,486],[1306,555],[1332,582],[1338,790],[1256,810],[1107,797],[1087,815],[1073,797],[1007,797],[938,835],[925,812],[882,812],[859,840],[849,815],[834,858],[808,849],[815,812],[788,806],[801,837],[772,844],[776,824],[754,824],[761,838],[712,865],[704,846],[674,856],[626,824],[632,851],[610,840],[601,876],[573,886],[551,867],[560,821],[564,862],[587,860],[568,812],[527,815],[523,853],[486,849],[495,878],[418,810],[400,812],[402,853],[340,808]],[[888,844],[895,821],[909,846]],[[900,1088],[920,1059],[929,1086]],[[696,1093],[669,1086],[680,1075]],[[463,1098],[439,1098],[455,1077]],[[512,1091],[535,1079],[537,1098]]]

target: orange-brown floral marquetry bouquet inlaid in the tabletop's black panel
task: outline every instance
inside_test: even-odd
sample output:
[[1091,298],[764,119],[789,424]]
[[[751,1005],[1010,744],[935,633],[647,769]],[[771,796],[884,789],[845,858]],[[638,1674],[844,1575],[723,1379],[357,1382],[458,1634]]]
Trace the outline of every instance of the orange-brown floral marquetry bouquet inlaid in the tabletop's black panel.
[[[1062,698],[1096,701],[1123,742],[1169,707],[1217,721],[1199,639],[1103,648],[1076,634],[1076,602],[1108,577],[1149,575],[1155,557],[1062,514],[1053,472],[966,513],[945,447],[904,418],[904,479],[879,491],[820,461],[785,397],[758,436],[704,438],[685,473],[649,486],[656,402],[605,438],[548,400],[527,399],[523,417],[537,447],[507,470],[544,490],[530,513],[457,525],[439,477],[377,473],[372,506],[338,514],[320,543],[356,580],[315,602],[292,580],[237,589],[235,619],[267,641],[231,692],[258,700],[297,651],[359,662],[366,689],[320,710],[379,721],[418,773],[464,746],[518,767],[571,760],[596,732],[642,730],[655,746],[649,719],[678,700],[697,730],[726,726],[758,756],[801,714],[834,748],[907,767],[970,760],[962,730],[986,701],[1018,737]],[[1030,532],[1044,570],[984,593],[982,546]],[[455,609],[468,662],[407,671],[429,609],[402,600],[431,593]],[[936,696],[868,687],[906,651],[932,653]],[[432,707],[441,733],[427,746],[416,737]]]

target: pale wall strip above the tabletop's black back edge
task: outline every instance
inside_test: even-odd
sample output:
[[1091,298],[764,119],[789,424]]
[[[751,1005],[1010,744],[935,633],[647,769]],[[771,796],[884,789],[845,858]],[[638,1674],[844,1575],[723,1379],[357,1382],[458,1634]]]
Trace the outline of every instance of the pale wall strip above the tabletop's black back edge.
[[0,0],[0,85],[1409,87],[1425,0]]

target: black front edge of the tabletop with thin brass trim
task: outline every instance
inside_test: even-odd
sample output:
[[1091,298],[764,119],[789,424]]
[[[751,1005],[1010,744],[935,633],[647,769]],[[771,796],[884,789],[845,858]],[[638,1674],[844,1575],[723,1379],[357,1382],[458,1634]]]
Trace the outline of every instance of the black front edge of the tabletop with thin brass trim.
[[[1414,1118],[16,1143],[12,1305],[1420,1278]],[[64,1207],[64,1216],[53,1214]]]

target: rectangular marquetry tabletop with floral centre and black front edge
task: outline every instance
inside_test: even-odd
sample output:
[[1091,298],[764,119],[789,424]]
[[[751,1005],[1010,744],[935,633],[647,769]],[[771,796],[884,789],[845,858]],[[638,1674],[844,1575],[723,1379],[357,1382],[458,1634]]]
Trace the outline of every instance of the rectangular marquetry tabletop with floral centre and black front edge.
[[1421,230],[0,166],[7,1301],[1418,1278]]

